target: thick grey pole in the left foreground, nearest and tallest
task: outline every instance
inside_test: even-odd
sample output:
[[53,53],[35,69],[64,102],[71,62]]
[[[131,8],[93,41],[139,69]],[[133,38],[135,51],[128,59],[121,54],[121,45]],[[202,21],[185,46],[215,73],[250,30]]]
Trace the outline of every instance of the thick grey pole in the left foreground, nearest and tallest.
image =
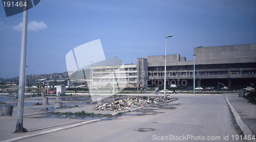
[[[25,0],[28,4],[28,0]],[[18,104],[17,104],[17,124],[15,133],[23,132],[23,112],[24,112],[24,90],[25,90],[25,69],[26,69],[26,48],[27,48],[27,26],[28,7],[24,7],[23,29],[22,29],[22,50],[20,53]]]

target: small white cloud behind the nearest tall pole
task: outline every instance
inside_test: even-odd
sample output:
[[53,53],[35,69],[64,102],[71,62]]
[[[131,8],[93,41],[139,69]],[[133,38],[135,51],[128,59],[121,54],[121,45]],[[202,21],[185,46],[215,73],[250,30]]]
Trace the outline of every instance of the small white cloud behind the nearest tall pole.
[[[13,26],[13,30],[22,31],[22,23],[19,23],[17,26]],[[48,26],[44,22],[36,22],[31,21],[28,23],[28,31],[39,31],[39,30],[45,30]]]

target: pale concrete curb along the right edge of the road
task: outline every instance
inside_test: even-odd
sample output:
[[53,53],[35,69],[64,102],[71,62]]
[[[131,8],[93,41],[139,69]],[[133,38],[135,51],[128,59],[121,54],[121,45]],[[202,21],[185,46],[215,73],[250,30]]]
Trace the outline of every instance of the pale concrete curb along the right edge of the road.
[[[226,102],[234,116],[234,119],[236,120],[236,123],[238,124],[239,128],[241,129],[241,131],[243,132],[244,136],[250,136],[252,137],[253,134],[251,132],[251,130],[249,129],[249,127],[243,122],[243,120],[241,119],[240,115],[238,114],[238,112],[236,111],[236,109],[234,109],[234,107],[231,105],[231,103],[229,102],[228,98],[225,97]],[[250,140],[247,140],[250,141]]]

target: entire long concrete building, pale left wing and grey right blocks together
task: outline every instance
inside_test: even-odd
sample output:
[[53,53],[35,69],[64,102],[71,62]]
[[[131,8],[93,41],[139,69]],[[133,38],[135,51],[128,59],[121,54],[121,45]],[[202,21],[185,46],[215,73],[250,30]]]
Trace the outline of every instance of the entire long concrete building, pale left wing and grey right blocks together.
[[[256,44],[198,47],[194,54],[196,86],[218,86],[219,82],[228,87],[256,85]],[[92,66],[92,86],[113,85],[113,78],[115,85],[163,86],[164,58],[147,56],[137,58],[136,65],[115,65],[115,77],[113,65]],[[166,86],[193,86],[194,60],[180,54],[167,55],[166,71]],[[90,69],[73,76],[77,82],[91,84]]]

